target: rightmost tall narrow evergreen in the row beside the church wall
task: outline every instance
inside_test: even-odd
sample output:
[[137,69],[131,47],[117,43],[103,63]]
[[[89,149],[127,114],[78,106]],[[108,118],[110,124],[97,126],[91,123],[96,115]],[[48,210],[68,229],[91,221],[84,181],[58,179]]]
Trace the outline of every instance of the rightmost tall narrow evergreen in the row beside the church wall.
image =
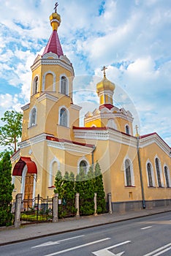
[[96,203],[97,203],[96,212],[97,214],[102,214],[106,211],[106,202],[105,202],[103,178],[102,178],[99,162],[96,162],[94,176],[95,176],[94,192],[96,192]]

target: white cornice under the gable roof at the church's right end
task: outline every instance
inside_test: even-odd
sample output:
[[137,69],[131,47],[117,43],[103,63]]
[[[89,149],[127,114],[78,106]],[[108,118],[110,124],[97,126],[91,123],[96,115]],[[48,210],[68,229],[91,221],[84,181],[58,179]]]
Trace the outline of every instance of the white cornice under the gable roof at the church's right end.
[[167,146],[161,138],[157,134],[149,135],[145,138],[140,138],[140,148],[145,148],[146,146],[150,146],[151,144],[156,143],[157,146],[161,148],[166,154],[170,156],[170,146]]

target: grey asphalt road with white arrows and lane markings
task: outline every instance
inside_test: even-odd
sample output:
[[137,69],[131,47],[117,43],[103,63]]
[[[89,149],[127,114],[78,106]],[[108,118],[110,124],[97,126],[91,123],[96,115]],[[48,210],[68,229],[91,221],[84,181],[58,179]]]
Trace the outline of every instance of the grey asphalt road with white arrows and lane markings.
[[1,256],[170,256],[171,213],[0,247]]

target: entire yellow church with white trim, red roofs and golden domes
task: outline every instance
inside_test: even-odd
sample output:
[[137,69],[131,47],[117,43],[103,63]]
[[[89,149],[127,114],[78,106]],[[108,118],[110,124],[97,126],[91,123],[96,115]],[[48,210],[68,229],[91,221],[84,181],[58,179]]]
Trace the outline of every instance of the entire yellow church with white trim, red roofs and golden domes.
[[30,102],[23,106],[20,149],[12,156],[13,197],[52,197],[57,170],[85,172],[96,161],[113,211],[171,205],[171,148],[155,132],[133,135],[134,117],[113,105],[115,84],[94,85],[99,109],[86,113],[72,101],[75,72],[58,38],[60,15],[53,12],[53,32],[42,56],[31,66]]

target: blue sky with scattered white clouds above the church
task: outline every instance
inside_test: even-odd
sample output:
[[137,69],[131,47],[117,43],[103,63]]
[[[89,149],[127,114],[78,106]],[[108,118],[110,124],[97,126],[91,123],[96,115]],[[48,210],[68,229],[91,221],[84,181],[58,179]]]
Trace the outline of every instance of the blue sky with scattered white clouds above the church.
[[[30,67],[50,37],[54,4],[0,0],[0,117],[29,102]],[[171,1],[58,4],[58,35],[75,69],[74,102],[83,106],[81,118],[98,108],[96,83],[105,65],[116,85],[114,104],[133,113],[141,135],[157,132],[171,146]]]

